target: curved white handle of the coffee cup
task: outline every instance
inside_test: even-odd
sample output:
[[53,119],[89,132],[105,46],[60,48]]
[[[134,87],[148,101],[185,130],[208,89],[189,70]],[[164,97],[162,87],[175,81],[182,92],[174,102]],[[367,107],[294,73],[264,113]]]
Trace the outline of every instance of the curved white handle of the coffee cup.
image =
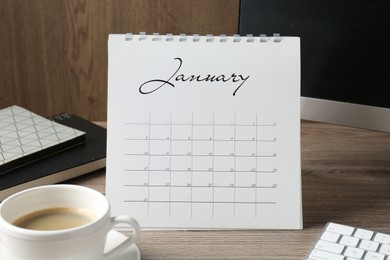
[[112,255],[117,254],[134,244],[135,241],[137,241],[139,234],[141,233],[141,228],[138,224],[138,221],[130,216],[118,215],[116,217],[111,217],[110,230],[117,224],[130,225],[133,228],[133,234],[129,236],[126,240],[124,240],[122,243],[111,249],[109,252],[105,253],[104,259],[110,258]]

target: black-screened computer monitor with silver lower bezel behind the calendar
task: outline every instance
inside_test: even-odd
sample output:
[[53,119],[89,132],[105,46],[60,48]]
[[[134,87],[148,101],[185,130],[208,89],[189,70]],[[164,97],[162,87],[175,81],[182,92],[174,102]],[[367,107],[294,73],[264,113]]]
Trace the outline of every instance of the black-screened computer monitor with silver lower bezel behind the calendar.
[[301,118],[390,132],[390,1],[241,0],[241,35],[301,38]]

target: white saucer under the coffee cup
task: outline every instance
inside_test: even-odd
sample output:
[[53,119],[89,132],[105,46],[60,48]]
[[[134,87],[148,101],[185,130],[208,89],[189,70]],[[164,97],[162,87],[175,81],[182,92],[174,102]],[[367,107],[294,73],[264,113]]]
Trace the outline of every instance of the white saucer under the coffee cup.
[[[126,236],[117,231],[110,231],[108,233],[107,245],[105,251],[108,251],[121,243],[126,239]],[[0,242],[0,259],[3,259],[3,245]],[[6,259],[4,259],[6,260]],[[136,244],[131,245],[127,249],[125,249],[122,253],[118,255],[114,255],[110,258],[110,260],[141,260],[141,253]]]

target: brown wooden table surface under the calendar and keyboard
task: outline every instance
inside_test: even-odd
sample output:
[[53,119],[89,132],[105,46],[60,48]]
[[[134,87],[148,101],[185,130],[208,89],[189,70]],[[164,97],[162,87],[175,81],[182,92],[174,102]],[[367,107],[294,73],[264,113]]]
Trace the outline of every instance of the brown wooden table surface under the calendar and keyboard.
[[[143,231],[141,259],[303,259],[327,222],[390,233],[390,133],[303,121],[304,229]],[[105,191],[105,172],[70,181]]]

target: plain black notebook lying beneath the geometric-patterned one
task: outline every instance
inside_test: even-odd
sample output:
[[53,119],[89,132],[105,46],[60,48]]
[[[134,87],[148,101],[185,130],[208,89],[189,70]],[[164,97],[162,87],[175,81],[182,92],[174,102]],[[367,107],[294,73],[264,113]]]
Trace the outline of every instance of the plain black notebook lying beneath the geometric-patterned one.
[[85,143],[0,175],[0,200],[23,189],[62,182],[105,167],[104,127],[66,113],[49,119],[86,132]]

